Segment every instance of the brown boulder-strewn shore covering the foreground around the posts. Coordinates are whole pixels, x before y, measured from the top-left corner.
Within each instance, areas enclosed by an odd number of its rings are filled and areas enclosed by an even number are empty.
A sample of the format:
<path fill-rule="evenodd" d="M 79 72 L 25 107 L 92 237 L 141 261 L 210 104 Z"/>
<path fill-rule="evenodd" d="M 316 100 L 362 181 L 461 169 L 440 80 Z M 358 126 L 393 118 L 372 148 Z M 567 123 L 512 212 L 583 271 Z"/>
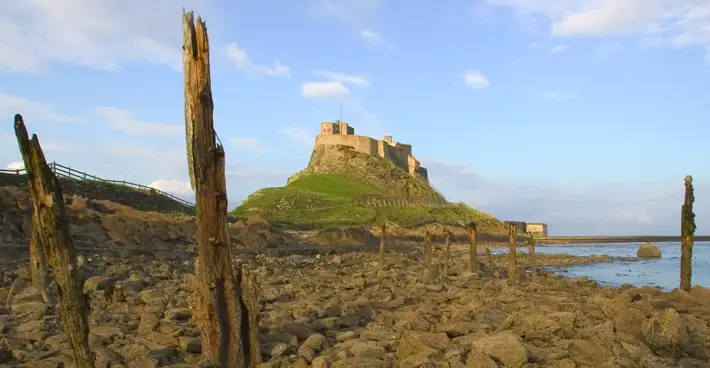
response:
<path fill-rule="evenodd" d="M 449 275 L 424 278 L 418 251 L 240 255 L 260 282 L 262 367 L 707 367 L 710 290 L 600 287 L 539 270 L 507 285 L 506 255 L 481 259 L 481 276 L 452 255 Z M 436 253 L 436 259 L 441 254 Z M 526 274 L 521 253 L 520 274 Z M 86 257 L 98 367 L 195 367 L 193 259 L 157 252 Z M 538 257 L 541 266 L 607 262 L 608 256 Z M 58 316 L 28 285 L 24 261 L 0 282 L 0 365 L 69 366 Z M 529 271 L 529 270 L 528 270 Z M 529 274 L 529 272 L 527 273 Z M 104 290 L 120 285 L 125 301 Z"/>

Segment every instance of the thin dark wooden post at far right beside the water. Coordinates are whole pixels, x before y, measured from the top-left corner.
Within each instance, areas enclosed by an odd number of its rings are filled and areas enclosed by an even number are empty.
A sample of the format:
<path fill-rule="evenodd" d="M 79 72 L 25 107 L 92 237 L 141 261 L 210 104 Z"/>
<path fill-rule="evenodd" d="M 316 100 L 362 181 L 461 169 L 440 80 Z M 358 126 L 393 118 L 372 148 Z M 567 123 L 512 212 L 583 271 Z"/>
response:
<path fill-rule="evenodd" d="M 685 202 L 680 216 L 680 288 L 690 291 L 693 274 L 693 237 L 695 236 L 695 214 L 693 213 L 693 177 L 685 177 Z"/>

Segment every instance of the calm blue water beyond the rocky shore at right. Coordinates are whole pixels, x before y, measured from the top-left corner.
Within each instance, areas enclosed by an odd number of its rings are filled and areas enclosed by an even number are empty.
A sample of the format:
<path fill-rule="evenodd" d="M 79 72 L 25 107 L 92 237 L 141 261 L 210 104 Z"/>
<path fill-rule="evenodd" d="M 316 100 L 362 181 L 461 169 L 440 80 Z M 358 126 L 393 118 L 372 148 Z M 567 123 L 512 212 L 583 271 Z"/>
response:
<path fill-rule="evenodd" d="M 578 256 L 607 254 L 614 257 L 636 257 L 640 243 L 574 244 L 538 247 L 538 253 L 569 253 Z M 600 284 L 620 286 L 660 286 L 666 290 L 680 284 L 680 243 L 657 243 L 661 247 L 660 259 L 638 262 L 610 262 L 571 266 L 565 276 L 588 276 Z M 710 287 L 710 242 L 698 242 L 693 247 L 693 285 Z"/>

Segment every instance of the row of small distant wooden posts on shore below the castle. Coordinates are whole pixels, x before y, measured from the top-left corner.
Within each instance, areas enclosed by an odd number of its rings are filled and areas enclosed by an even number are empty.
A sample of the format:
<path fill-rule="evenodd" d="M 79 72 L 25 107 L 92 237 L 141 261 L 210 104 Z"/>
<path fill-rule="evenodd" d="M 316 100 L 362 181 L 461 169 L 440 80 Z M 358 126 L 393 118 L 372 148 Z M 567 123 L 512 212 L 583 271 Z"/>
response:
<path fill-rule="evenodd" d="M 469 272 L 471 272 L 474 275 L 478 275 L 478 231 L 476 224 L 471 222 L 465 226 L 467 232 L 468 232 L 468 238 L 469 238 Z M 443 269 L 443 274 L 448 275 L 449 274 L 449 265 L 450 265 L 450 259 L 451 259 L 451 231 L 448 229 L 443 230 L 443 235 L 444 235 L 444 254 L 443 254 L 443 259 L 442 259 L 442 269 Z M 537 281 L 537 260 L 535 258 L 535 238 L 533 237 L 532 233 L 527 233 L 527 238 L 526 242 L 528 244 L 528 256 L 530 257 L 530 265 L 532 268 L 532 280 Z M 426 272 L 426 276 L 428 278 L 433 277 L 436 275 L 438 272 L 436 269 L 434 269 L 434 264 L 433 264 L 433 258 L 434 258 L 434 251 L 432 247 L 432 239 L 433 236 L 433 231 L 430 229 L 427 229 L 424 233 L 424 268 Z M 514 225 L 509 225 L 508 226 L 508 244 L 509 244 L 509 251 L 508 251 L 508 280 L 511 283 L 517 282 L 518 281 L 518 261 L 517 261 L 517 237 L 518 237 L 518 229 Z M 380 229 L 380 249 L 379 249 L 379 257 L 378 257 L 378 265 L 380 268 L 385 268 L 386 267 L 386 261 L 385 261 L 385 248 L 386 248 L 386 243 L 387 243 L 387 225 L 383 224 Z M 486 255 L 488 258 L 488 263 L 493 264 L 492 262 L 492 254 L 491 254 L 491 248 L 486 247 Z"/>

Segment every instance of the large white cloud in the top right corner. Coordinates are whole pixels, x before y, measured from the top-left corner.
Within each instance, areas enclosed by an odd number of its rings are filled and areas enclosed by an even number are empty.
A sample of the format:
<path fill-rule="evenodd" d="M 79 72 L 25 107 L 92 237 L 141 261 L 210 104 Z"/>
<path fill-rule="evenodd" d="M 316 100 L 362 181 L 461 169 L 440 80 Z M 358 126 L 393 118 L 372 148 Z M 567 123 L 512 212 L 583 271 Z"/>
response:
<path fill-rule="evenodd" d="M 633 35 L 642 44 L 701 46 L 710 58 L 710 2 L 705 0 L 487 0 L 549 21 L 556 36 Z"/>

